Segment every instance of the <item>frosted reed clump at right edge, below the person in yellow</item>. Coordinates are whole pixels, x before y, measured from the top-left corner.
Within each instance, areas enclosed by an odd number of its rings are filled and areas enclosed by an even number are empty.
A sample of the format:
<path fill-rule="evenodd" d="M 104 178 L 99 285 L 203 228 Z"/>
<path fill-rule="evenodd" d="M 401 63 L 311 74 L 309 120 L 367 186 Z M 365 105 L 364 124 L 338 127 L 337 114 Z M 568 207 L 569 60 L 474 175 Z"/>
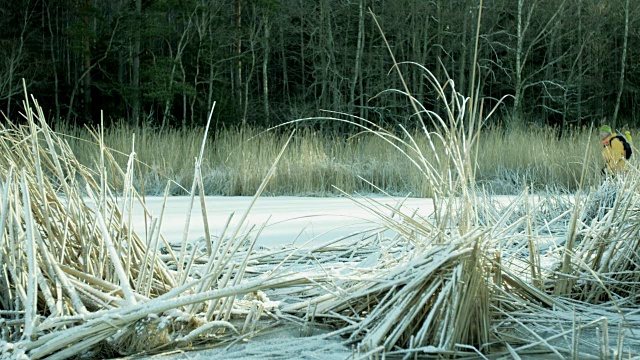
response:
<path fill-rule="evenodd" d="M 572 248 L 567 249 L 572 261 L 563 268 L 575 280 L 567 280 L 557 292 L 589 303 L 638 304 L 638 181 L 637 176 L 607 181 L 584 200 L 583 222 L 576 224 Z"/>

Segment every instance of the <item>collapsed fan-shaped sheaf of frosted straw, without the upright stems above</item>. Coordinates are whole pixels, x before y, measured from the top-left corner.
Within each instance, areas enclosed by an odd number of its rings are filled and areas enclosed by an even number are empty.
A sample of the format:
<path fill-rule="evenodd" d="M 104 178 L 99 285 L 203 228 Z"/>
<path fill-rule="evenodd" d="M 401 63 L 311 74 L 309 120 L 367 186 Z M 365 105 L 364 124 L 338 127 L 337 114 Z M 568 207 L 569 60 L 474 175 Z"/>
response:
<path fill-rule="evenodd" d="M 385 244 L 385 256 L 375 265 L 356 266 L 349 276 L 338 277 L 329 296 L 283 311 L 311 306 L 316 319 L 326 319 L 350 343 L 368 350 L 427 345 L 453 350 L 455 344 L 486 344 L 488 287 L 474 240 L 461 239 L 430 251 Z"/>

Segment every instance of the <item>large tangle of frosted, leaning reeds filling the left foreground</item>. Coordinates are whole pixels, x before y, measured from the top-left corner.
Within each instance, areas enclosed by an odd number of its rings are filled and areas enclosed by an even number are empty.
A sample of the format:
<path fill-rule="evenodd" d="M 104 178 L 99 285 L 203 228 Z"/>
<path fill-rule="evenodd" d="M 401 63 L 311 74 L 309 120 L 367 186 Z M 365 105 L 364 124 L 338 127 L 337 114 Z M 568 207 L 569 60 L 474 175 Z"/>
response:
<path fill-rule="evenodd" d="M 255 275 L 255 237 L 240 232 L 241 224 L 217 241 L 192 244 L 188 230 L 183 239 L 165 239 L 166 203 L 152 216 L 133 187 L 135 137 L 121 168 L 96 132 L 99 152 L 90 169 L 51 131 L 35 100 L 23 108 L 26 125 L 0 125 L 3 359 L 105 358 L 228 343 L 270 326 L 261 324 L 274 307 L 264 289 L 318 281 L 286 271 Z M 197 153 L 192 195 L 202 193 Z M 122 184 L 118 192 L 112 183 Z M 145 224 L 133 224 L 134 203 Z M 143 225 L 146 238 L 136 232 Z"/>

